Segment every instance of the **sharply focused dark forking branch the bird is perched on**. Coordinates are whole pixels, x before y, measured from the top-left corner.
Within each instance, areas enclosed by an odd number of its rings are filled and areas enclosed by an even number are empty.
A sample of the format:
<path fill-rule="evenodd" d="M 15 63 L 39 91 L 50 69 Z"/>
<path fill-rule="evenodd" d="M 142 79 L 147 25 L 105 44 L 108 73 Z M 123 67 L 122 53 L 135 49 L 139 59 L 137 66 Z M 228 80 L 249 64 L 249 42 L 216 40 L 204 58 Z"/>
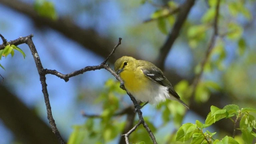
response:
<path fill-rule="evenodd" d="M 62 73 L 60 73 L 60 72 L 58 72 L 56 70 L 48 70 L 48 69 L 44 69 L 43 68 L 41 60 L 40 60 L 39 55 L 37 53 L 37 50 L 35 48 L 35 45 L 34 45 L 34 43 L 32 41 L 32 37 L 33 37 L 33 35 L 31 34 L 31 35 L 29 35 L 27 37 L 20 37 L 17 40 L 10 41 L 9 43 L 12 43 L 12 44 L 14 44 L 16 46 L 18 44 L 26 43 L 29 46 L 31 54 L 32 54 L 32 56 L 34 58 L 34 61 L 35 61 L 36 67 L 37 67 L 37 71 L 38 71 L 39 77 L 40 77 L 40 81 L 41 81 L 41 85 L 42 85 L 42 92 L 43 92 L 43 95 L 44 95 L 45 105 L 46 105 L 46 109 L 47 109 L 47 118 L 49 120 L 49 123 L 51 125 L 52 131 L 55 134 L 55 136 L 58 138 L 58 140 L 60 141 L 61 144 L 65 144 L 65 141 L 62 139 L 62 137 L 61 137 L 61 135 L 60 135 L 60 133 L 59 133 L 57 127 L 56 127 L 56 123 L 55 123 L 55 121 L 53 119 L 53 116 L 52 116 L 52 111 L 51 111 L 51 106 L 50 106 L 50 101 L 49 101 L 49 94 L 48 94 L 48 91 L 47 91 L 47 84 L 46 84 L 46 77 L 45 77 L 45 75 L 46 74 L 53 74 L 53 75 L 56 75 L 57 77 L 60 77 L 60 78 L 64 79 L 67 82 L 70 77 L 82 74 L 82 73 L 84 73 L 86 71 L 92 71 L 92 70 L 98 70 L 98 69 L 103 69 L 104 68 L 107 71 L 109 71 L 121 83 L 122 79 L 113 71 L 113 69 L 110 68 L 109 64 L 106 64 L 106 62 L 109 59 L 109 57 L 113 55 L 113 53 L 115 52 L 116 48 L 121 44 L 122 38 L 119 38 L 118 44 L 114 47 L 114 49 L 109 54 L 109 56 L 106 58 L 106 60 L 103 61 L 100 65 L 97 65 L 97 66 L 87 66 L 85 68 L 82 68 L 80 70 L 74 71 L 74 72 L 69 73 L 69 74 L 62 74 Z M 0 47 L 3 47 L 3 45 L 0 45 Z M 125 90 L 124 87 L 123 87 L 123 89 Z M 138 104 L 136 99 L 131 94 L 129 94 L 129 93 L 127 93 L 127 94 L 130 96 L 130 98 L 133 101 L 134 105 Z M 153 143 L 157 144 L 152 131 L 150 130 L 150 128 L 148 127 L 147 123 L 143 119 L 142 112 L 140 110 L 138 110 L 137 113 L 138 113 L 138 116 L 139 116 L 139 123 L 137 125 L 143 124 L 144 128 L 149 133 L 149 136 L 151 137 Z M 135 129 L 136 128 L 137 127 L 135 127 Z"/>

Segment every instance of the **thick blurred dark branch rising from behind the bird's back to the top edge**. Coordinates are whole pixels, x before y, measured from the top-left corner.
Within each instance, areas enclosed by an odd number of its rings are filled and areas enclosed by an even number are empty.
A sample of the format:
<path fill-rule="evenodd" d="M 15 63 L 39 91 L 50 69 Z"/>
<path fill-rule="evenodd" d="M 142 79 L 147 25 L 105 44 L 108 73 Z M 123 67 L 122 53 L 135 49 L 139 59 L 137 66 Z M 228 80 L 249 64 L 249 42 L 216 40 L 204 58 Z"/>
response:
<path fill-rule="evenodd" d="M 174 41 L 178 37 L 181 27 L 182 27 L 183 23 L 185 22 L 190 9 L 194 5 L 194 2 L 195 2 L 195 0 L 187 0 L 184 4 L 182 4 L 180 6 L 177 20 L 174 23 L 172 31 L 169 33 L 164 45 L 161 47 L 160 53 L 157 58 L 157 60 L 158 60 L 157 66 L 160 69 L 164 68 L 164 61 L 165 61 L 169 51 L 171 50 Z"/>

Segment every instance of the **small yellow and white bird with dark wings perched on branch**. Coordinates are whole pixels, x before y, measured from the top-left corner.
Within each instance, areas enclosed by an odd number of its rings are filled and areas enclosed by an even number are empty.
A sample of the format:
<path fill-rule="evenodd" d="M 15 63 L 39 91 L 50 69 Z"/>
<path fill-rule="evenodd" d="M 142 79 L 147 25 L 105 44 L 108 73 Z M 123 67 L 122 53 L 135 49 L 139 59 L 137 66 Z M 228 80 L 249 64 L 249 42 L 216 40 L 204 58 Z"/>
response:
<path fill-rule="evenodd" d="M 163 75 L 163 72 L 154 64 L 123 56 L 116 60 L 114 65 L 114 69 L 123 80 L 127 92 L 132 94 L 137 101 L 146 102 L 144 105 L 147 103 L 158 104 L 167 98 L 177 100 L 189 109 Z M 135 111 L 143 106 L 135 106 Z"/>

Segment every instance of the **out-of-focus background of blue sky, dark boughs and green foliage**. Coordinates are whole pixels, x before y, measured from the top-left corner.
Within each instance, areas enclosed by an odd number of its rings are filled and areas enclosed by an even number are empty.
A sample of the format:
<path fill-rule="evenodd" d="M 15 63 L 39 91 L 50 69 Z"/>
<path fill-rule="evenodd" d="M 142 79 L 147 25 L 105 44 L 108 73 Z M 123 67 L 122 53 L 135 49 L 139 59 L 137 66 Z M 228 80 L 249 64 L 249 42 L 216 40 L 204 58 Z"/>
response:
<path fill-rule="evenodd" d="M 186 7 L 188 16 L 170 51 L 161 53 L 188 1 L 0 0 L 0 33 L 7 41 L 33 34 L 43 67 L 63 74 L 99 65 L 121 37 L 110 65 L 124 55 L 155 63 L 190 106 L 186 110 L 167 100 L 142 109 L 158 143 L 175 143 L 177 128 L 196 119 L 204 122 L 211 105 L 256 107 L 255 0 L 221 0 L 219 33 L 207 58 L 216 0 L 195 0 L 191 9 Z M 31 52 L 26 44 L 18 47 L 25 59 L 15 52 L 13 58 L 0 61 L 5 68 L 0 69 L 4 78 L 0 78 L 0 144 L 58 143 L 49 126 Z M 131 100 L 104 69 L 68 82 L 53 75 L 46 78 L 53 118 L 66 141 L 122 143 L 121 134 L 138 121 Z M 124 109 L 125 114 L 113 116 Z M 230 135 L 233 123 L 223 120 L 209 130 L 220 137 Z M 130 142 L 140 141 L 151 143 L 142 126 L 130 136 Z"/>

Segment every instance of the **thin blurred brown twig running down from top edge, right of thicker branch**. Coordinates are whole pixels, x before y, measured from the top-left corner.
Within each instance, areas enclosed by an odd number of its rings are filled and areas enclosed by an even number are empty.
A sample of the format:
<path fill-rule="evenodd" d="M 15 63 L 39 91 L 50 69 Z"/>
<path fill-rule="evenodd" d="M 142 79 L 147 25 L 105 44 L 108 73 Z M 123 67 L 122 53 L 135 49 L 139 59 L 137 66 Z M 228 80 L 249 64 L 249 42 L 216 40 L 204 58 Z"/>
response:
<path fill-rule="evenodd" d="M 206 62 L 208 61 L 209 57 L 210 57 L 210 54 L 213 50 L 213 46 L 216 42 L 216 37 L 218 36 L 218 17 L 219 17 L 219 7 L 220 7 L 220 0 L 217 1 L 217 5 L 216 5 L 216 13 L 215 13 L 215 17 L 214 17 L 214 23 L 213 23 L 213 29 L 214 29 L 214 32 L 212 34 L 212 37 L 211 37 L 211 40 L 209 42 L 209 45 L 208 45 L 208 48 L 207 48 L 207 51 L 206 51 L 206 55 L 205 55 L 205 58 L 203 59 L 203 61 L 201 62 L 201 69 L 200 69 L 200 72 L 196 75 L 193 83 L 192 83 L 192 87 L 193 87 L 193 91 L 192 91 L 192 96 L 194 95 L 195 93 L 195 89 L 199 83 L 199 80 L 203 74 L 203 70 L 204 70 L 204 66 L 206 64 Z"/>

